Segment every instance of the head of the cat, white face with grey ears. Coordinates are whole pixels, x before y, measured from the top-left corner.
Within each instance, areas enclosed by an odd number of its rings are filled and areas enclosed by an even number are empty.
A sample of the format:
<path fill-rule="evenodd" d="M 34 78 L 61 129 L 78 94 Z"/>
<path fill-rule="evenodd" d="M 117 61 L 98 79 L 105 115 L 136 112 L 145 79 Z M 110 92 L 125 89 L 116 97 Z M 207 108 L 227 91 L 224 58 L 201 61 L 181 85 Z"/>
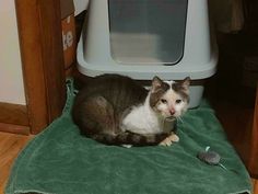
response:
<path fill-rule="evenodd" d="M 162 81 L 159 77 L 152 80 L 150 106 L 163 117 L 179 117 L 189 104 L 190 78 L 183 81 Z"/>

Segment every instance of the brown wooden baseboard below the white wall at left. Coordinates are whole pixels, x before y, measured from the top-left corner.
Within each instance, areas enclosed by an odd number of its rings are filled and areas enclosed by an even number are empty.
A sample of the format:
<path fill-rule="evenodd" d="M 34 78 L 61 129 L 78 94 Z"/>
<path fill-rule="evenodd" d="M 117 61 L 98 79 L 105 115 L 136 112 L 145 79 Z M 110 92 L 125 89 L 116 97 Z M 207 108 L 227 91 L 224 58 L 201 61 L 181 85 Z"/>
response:
<path fill-rule="evenodd" d="M 30 133 L 27 106 L 0 102 L 0 130 L 15 134 Z"/>

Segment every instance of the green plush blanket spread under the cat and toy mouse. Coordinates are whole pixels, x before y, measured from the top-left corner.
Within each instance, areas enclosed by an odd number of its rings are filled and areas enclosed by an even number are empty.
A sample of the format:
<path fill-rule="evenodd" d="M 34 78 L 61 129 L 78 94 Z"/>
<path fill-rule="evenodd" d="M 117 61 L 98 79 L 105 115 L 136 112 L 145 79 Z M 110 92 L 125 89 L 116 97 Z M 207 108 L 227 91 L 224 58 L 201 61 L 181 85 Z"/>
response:
<path fill-rule="evenodd" d="M 251 192 L 250 178 L 228 144 L 214 111 L 206 101 L 178 123 L 179 142 L 172 147 L 105 146 L 80 136 L 70 107 L 28 142 L 17 157 L 7 194 L 225 194 Z M 207 146 L 221 163 L 209 166 L 196 156 Z"/>

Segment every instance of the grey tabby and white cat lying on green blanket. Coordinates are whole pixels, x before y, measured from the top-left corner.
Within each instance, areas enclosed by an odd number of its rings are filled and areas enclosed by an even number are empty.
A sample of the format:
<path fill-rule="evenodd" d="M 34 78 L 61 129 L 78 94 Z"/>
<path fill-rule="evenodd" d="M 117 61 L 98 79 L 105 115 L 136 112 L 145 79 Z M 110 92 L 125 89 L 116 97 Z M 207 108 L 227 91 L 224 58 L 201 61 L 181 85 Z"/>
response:
<path fill-rule="evenodd" d="M 178 137 L 163 129 L 164 119 L 187 111 L 189 84 L 189 77 L 154 77 L 146 90 L 126 76 L 97 76 L 77 94 L 72 117 L 82 135 L 106 145 L 169 146 Z"/>

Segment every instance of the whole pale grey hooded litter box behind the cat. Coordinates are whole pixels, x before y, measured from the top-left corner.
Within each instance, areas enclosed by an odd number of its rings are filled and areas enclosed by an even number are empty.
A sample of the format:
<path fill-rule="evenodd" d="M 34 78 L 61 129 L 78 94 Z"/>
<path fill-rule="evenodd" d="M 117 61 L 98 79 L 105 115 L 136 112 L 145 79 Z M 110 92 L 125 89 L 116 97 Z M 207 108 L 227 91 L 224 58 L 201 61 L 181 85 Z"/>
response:
<path fill-rule="evenodd" d="M 119 73 L 136 80 L 190 77 L 190 107 L 215 73 L 218 49 L 207 0 L 92 0 L 77 50 L 87 77 Z"/>

